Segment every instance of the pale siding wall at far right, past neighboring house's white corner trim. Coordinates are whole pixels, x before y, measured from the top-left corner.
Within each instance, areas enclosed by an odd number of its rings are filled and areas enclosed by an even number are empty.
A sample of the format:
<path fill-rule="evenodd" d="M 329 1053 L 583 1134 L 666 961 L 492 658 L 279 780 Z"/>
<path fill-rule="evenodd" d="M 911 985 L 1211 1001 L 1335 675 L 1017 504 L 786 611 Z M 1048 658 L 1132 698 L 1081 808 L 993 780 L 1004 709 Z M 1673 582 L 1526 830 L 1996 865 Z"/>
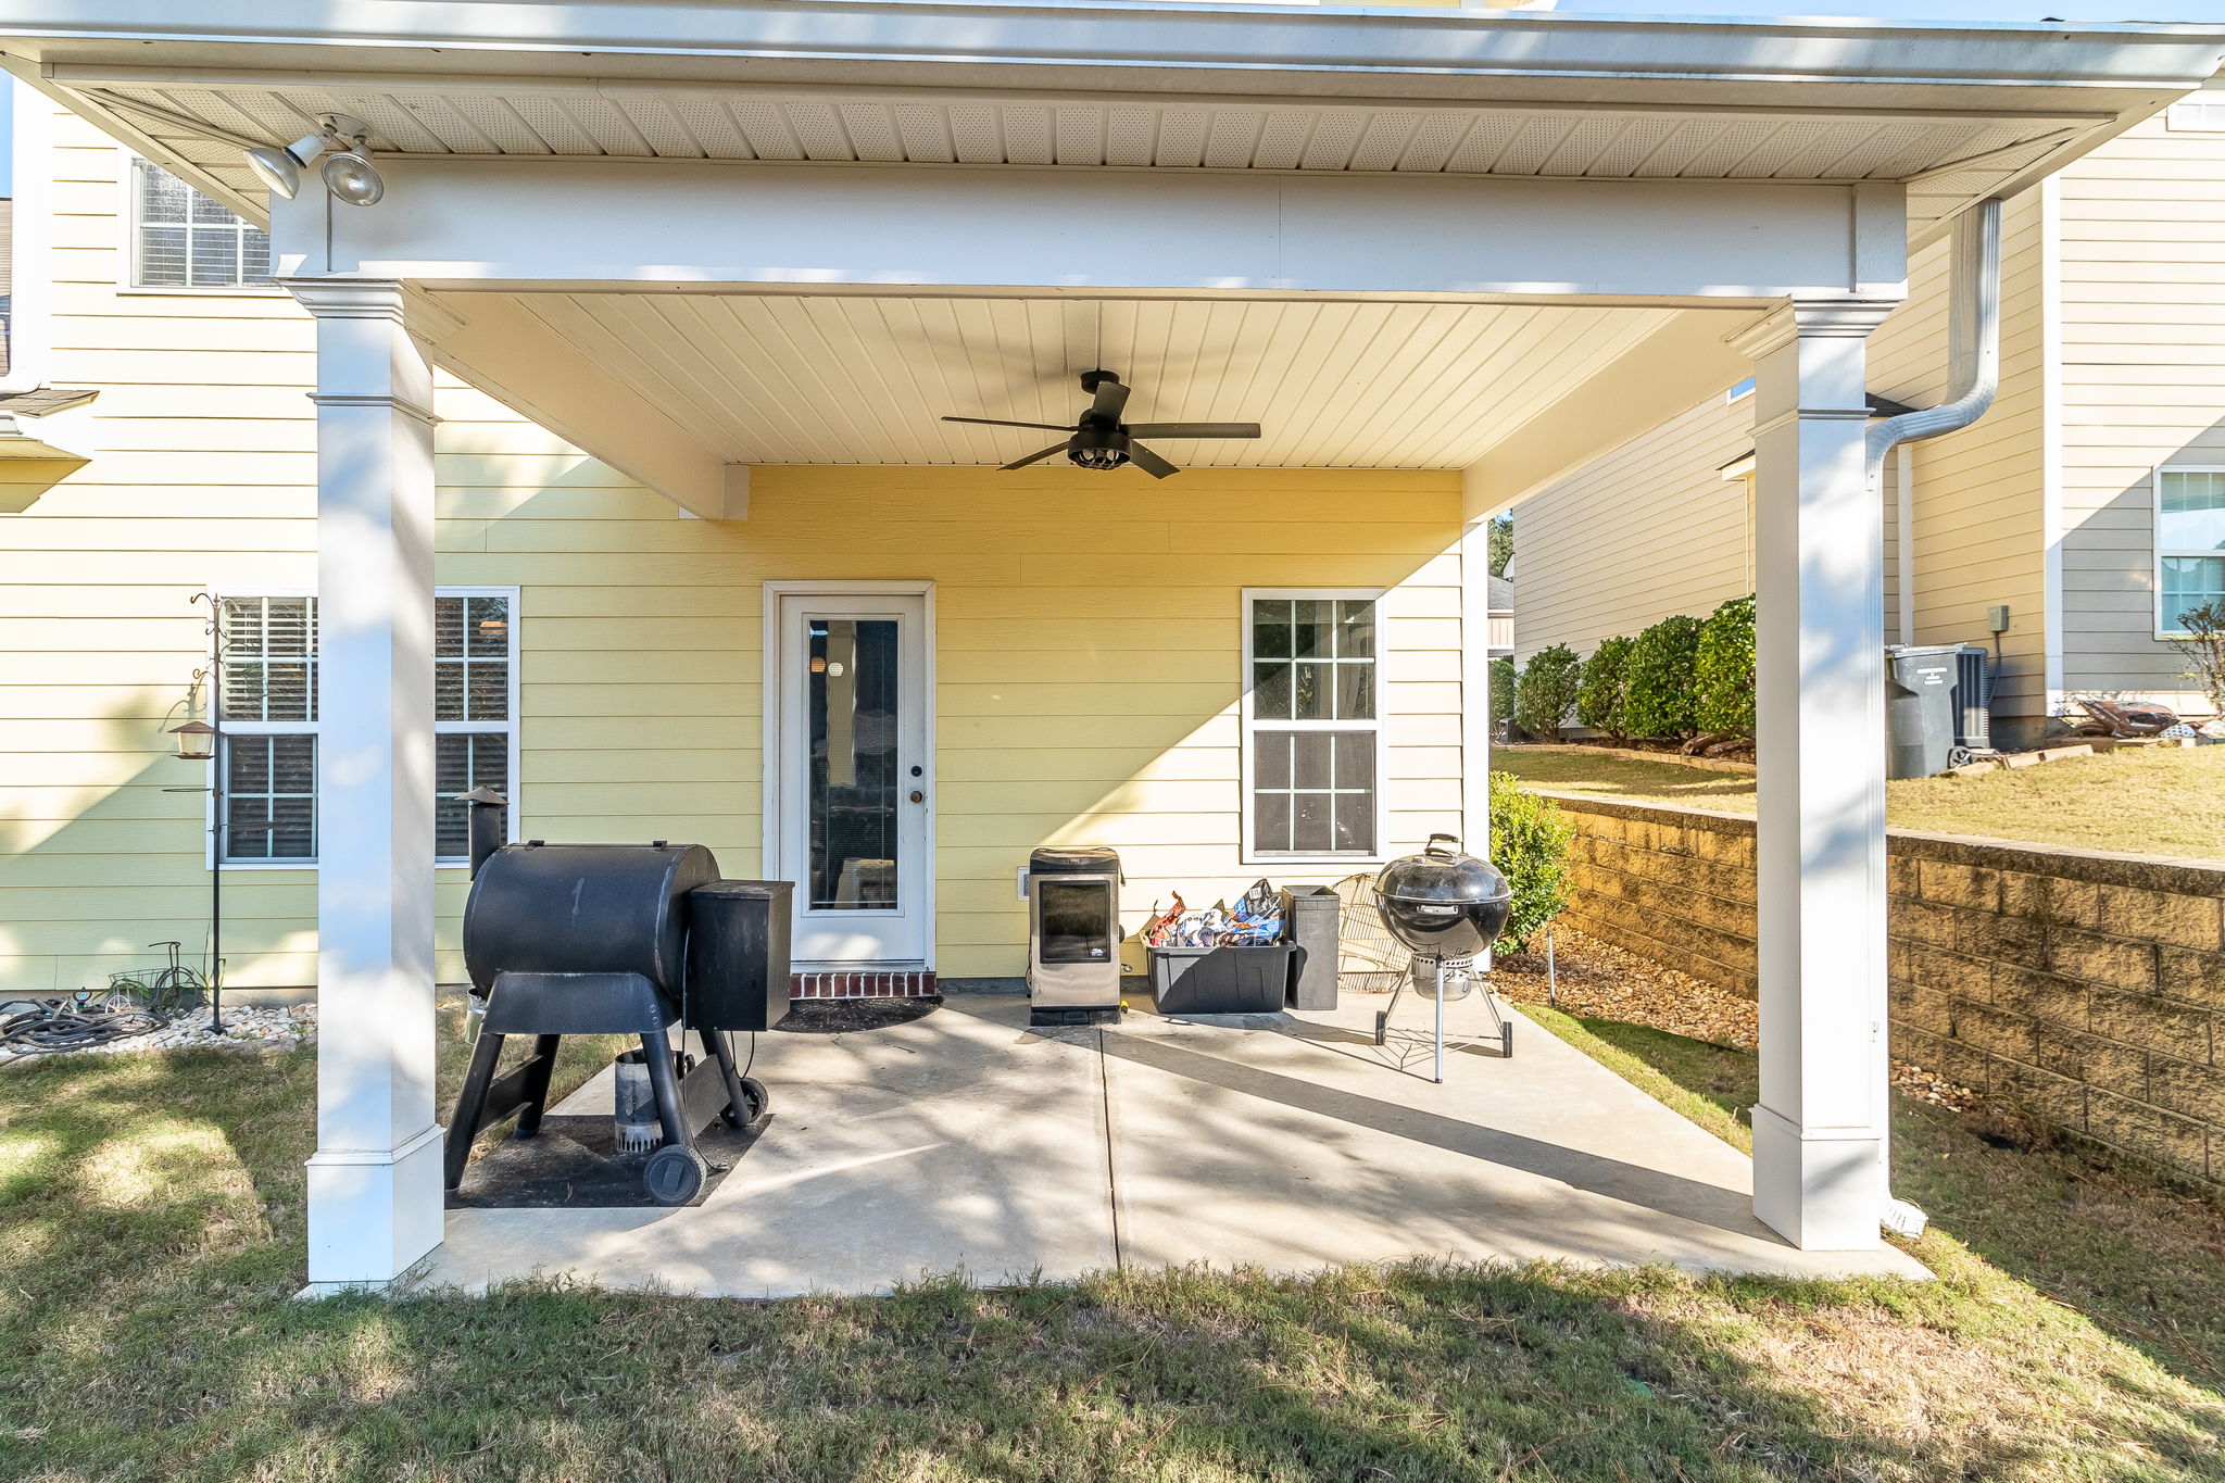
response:
<path fill-rule="evenodd" d="M 2154 467 L 2225 465 L 2225 133 L 2152 120 L 2060 182 L 2063 685 L 2209 703 L 2156 638 Z"/>

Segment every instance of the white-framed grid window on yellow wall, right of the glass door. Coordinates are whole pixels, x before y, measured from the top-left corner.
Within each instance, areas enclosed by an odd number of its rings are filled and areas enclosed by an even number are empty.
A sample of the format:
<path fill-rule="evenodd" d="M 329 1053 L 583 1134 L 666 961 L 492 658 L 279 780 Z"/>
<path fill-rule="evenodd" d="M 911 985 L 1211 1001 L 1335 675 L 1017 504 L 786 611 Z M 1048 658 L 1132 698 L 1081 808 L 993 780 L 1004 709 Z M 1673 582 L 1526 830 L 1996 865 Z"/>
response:
<path fill-rule="evenodd" d="M 1375 596 L 1246 594 L 1250 852 L 1377 852 Z"/>

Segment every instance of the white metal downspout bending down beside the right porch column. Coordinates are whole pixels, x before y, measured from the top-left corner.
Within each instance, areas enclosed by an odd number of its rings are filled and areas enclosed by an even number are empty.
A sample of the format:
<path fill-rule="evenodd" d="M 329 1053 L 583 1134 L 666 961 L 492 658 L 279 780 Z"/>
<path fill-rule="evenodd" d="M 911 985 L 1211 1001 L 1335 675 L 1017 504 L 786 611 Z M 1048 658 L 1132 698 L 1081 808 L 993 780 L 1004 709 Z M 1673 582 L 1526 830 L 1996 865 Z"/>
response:
<path fill-rule="evenodd" d="M 1985 416 L 2000 389 L 2000 200 L 1987 200 L 1974 211 L 1965 211 L 1954 222 L 1951 273 L 1947 280 L 1947 400 L 1922 411 L 1905 411 L 1896 418 L 1873 422 L 1867 438 L 1867 471 L 1871 498 L 1885 498 L 1885 458 L 1907 442 L 1938 438 L 1962 431 Z M 1914 500 L 1907 511 L 1914 518 Z M 1909 531 L 1902 529 L 1907 540 Z M 1902 585 L 1907 574 L 1902 574 Z M 1902 596 L 1902 609 L 1909 598 Z M 1902 634 L 1907 640 L 1907 634 Z M 1873 780 L 1885 789 L 1882 772 Z M 1882 798 L 1878 800 L 1882 805 Z M 1882 807 L 1880 807 L 1882 812 Z M 1885 843 L 1878 843 L 1878 858 L 1871 860 L 1873 878 L 1885 880 Z M 1878 1083 L 1891 1087 L 1893 1063 L 1889 1045 L 1889 1009 L 1878 1012 Z M 1885 1116 L 1878 1123 L 1878 1161 L 1885 1183 L 1885 1225 L 1902 1236 L 1920 1236 L 1927 1216 L 1907 1201 L 1893 1198 L 1891 1163 L 1891 1092 L 1887 1092 Z"/>

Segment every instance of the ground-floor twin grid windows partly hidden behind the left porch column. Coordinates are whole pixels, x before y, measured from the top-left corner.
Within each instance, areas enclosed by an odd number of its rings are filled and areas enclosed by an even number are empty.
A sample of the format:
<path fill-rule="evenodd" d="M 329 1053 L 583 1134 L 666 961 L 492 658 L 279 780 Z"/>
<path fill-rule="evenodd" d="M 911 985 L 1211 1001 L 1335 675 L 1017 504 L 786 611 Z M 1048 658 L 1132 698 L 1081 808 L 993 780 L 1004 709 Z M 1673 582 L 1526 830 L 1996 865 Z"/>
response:
<path fill-rule="evenodd" d="M 225 860 L 316 860 L 316 598 L 225 598 Z M 510 796 L 516 625 L 505 591 L 434 598 L 434 854 L 465 858 L 456 794 Z"/>

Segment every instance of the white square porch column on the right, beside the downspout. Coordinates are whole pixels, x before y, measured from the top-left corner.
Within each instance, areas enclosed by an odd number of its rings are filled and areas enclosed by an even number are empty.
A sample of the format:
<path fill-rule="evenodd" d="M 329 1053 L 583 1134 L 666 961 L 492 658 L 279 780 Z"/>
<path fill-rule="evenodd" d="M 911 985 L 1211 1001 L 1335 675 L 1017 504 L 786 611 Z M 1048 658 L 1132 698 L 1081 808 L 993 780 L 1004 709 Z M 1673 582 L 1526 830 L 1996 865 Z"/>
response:
<path fill-rule="evenodd" d="M 1753 360 L 1762 1098 L 1753 1214 L 1878 1245 L 1885 1036 L 1885 551 L 1862 467 L 1865 338 L 1893 300 L 1796 300 Z"/>

